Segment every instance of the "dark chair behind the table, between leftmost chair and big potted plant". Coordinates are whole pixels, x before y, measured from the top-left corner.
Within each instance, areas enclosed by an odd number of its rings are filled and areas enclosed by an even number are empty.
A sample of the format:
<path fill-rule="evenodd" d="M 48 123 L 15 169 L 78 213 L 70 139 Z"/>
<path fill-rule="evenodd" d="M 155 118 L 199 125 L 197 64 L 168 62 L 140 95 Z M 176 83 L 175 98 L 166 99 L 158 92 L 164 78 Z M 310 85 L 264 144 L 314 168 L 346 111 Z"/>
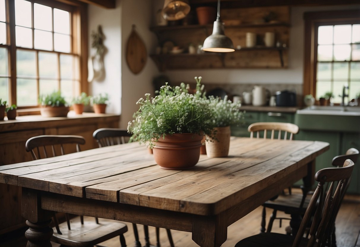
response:
<path fill-rule="evenodd" d="M 127 130 L 117 129 L 117 128 L 101 128 L 95 130 L 93 133 L 93 137 L 98 142 L 100 148 L 126 143 L 127 139 L 130 138 L 130 136 L 132 136 L 132 134 L 128 133 Z M 141 247 L 141 243 L 139 241 L 138 228 L 134 223 L 132 224 L 132 227 L 134 229 L 134 235 L 135 235 L 135 247 Z M 172 240 L 170 229 L 166 229 L 166 232 L 170 242 L 170 246 L 174 247 L 174 242 Z M 149 227 L 147 225 L 144 225 L 144 234 L 145 234 L 145 243 L 146 243 L 145 246 L 149 247 L 150 246 Z M 159 228 L 156 228 L 156 240 L 157 240 L 156 246 L 160 246 Z"/>

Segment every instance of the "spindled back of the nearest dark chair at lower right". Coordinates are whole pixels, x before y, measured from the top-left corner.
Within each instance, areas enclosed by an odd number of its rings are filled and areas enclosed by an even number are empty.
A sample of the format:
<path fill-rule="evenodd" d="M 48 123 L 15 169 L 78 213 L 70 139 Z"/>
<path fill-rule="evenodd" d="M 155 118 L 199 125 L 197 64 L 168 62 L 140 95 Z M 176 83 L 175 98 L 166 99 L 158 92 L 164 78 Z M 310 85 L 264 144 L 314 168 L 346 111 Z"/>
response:
<path fill-rule="evenodd" d="M 354 162 L 346 160 L 342 167 L 325 168 L 316 172 L 315 179 L 319 182 L 314 194 L 311 197 L 309 206 L 306 208 L 305 215 L 301 221 L 300 229 L 298 230 L 293 247 L 300 244 L 305 229 L 309 223 L 311 215 L 314 217 L 310 227 L 310 239 L 307 243 L 308 247 L 325 246 L 328 241 L 329 234 L 332 233 L 334 221 L 339 210 L 341 200 L 346 192 L 347 184 L 351 178 L 354 169 Z M 326 196 L 323 190 L 323 185 L 331 183 Z M 336 185 L 337 183 L 337 185 Z M 333 192 L 333 190 L 335 191 Z M 319 199 L 319 205 L 316 206 L 316 201 Z"/>

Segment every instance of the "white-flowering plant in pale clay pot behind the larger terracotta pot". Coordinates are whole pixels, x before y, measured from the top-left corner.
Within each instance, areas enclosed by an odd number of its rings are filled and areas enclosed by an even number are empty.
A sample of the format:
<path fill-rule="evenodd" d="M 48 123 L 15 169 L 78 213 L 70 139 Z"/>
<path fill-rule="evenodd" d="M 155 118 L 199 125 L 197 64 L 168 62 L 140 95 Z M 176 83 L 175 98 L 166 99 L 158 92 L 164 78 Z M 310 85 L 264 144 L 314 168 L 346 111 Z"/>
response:
<path fill-rule="evenodd" d="M 226 157 L 229 154 L 230 125 L 237 125 L 243 120 L 243 112 L 240 111 L 241 102 L 231 102 L 228 96 L 224 99 L 209 96 L 210 107 L 213 111 L 213 135 L 206 136 L 206 154 L 208 157 Z"/>

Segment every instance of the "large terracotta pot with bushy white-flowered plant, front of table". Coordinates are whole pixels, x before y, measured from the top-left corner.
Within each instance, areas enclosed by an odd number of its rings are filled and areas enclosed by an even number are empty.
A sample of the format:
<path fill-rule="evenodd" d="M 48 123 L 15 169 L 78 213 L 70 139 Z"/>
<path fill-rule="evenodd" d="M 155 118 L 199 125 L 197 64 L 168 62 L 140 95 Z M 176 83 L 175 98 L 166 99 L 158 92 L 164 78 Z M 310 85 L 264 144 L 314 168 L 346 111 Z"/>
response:
<path fill-rule="evenodd" d="M 195 77 L 198 79 L 197 77 Z M 204 134 L 212 135 L 213 111 L 197 80 L 196 93 L 189 85 L 161 87 L 155 98 L 140 98 L 135 120 L 129 122 L 131 140 L 153 148 L 156 163 L 164 169 L 189 169 L 199 160 Z"/>

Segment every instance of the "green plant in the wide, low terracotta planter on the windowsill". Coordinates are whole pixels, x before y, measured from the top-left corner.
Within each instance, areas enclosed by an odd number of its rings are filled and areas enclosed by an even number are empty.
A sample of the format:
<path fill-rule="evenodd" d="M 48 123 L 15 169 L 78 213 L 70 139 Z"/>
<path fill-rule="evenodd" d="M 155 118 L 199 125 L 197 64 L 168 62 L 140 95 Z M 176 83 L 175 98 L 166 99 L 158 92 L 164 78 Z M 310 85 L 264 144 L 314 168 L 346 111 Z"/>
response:
<path fill-rule="evenodd" d="M 59 91 L 40 95 L 39 104 L 41 116 L 44 117 L 66 117 L 69 112 L 66 100 Z"/>

